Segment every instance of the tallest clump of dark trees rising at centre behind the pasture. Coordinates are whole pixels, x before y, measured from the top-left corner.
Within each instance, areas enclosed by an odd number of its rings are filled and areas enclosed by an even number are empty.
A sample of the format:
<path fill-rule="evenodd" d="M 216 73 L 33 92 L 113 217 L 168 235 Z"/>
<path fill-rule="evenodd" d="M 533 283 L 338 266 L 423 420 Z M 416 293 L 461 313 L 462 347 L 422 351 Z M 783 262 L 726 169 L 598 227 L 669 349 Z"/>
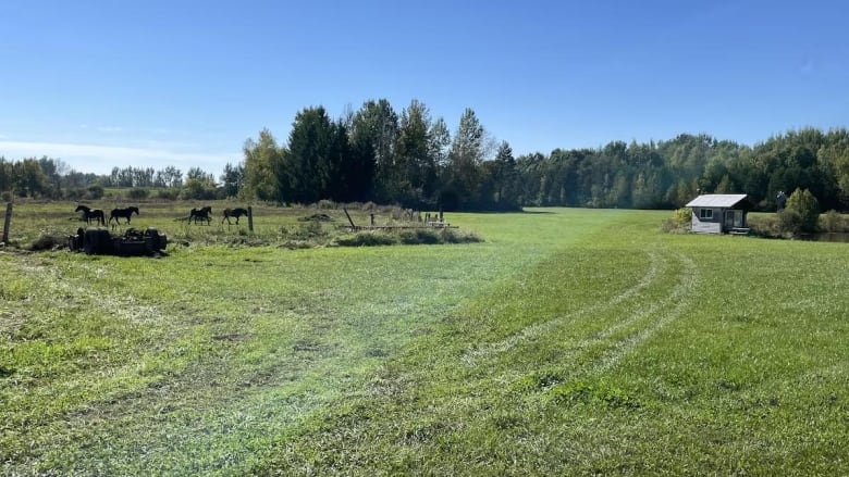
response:
<path fill-rule="evenodd" d="M 494 152 L 494 156 L 492 155 Z M 285 145 L 268 129 L 244 147 L 244 192 L 282 203 L 374 201 L 410 208 L 516 210 L 515 159 L 471 109 L 452 133 L 414 100 L 397 113 L 386 100 L 331 118 L 297 113 Z"/>

